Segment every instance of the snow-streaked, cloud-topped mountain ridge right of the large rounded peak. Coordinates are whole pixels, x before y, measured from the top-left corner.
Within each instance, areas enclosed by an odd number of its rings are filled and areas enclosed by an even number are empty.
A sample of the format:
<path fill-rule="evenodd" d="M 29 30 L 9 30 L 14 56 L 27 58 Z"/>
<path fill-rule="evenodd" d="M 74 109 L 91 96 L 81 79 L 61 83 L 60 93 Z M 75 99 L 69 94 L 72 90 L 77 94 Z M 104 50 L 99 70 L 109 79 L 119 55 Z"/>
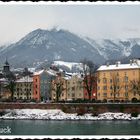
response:
<path fill-rule="evenodd" d="M 84 39 L 95 49 L 97 49 L 99 54 L 104 56 L 106 60 L 121 59 L 125 57 L 139 57 L 140 38 L 131 38 L 125 40 L 93 40 L 86 37 Z"/>

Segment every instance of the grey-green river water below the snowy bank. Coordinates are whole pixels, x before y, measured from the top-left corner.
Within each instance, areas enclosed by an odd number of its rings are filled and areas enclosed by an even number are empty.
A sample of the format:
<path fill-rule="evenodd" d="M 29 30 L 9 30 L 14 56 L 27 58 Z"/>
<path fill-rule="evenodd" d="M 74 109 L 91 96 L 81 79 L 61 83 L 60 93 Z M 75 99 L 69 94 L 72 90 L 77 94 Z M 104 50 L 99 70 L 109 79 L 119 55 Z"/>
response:
<path fill-rule="evenodd" d="M 11 129 L 10 135 L 140 135 L 140 121 L 138 120 L 0 120 L 0 129 L 7 126 Z"/>

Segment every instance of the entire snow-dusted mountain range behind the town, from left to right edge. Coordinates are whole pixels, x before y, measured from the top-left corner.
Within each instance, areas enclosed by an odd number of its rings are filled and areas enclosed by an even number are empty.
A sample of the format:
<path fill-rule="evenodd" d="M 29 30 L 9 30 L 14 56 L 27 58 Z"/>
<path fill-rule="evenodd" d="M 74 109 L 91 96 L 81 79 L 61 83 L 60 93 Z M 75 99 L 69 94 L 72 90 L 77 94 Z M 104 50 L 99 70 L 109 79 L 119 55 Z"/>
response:
<path fill-rule="evenodd" d="M 84 58 L 101 64 L 139 54 L 140 38 L 94 40 L 62 29 L 37 29 L 14 44 L 0 47 L 1 63 L 7 57 L 12 65 L 20 67 L 56 60 L 80 62 Z"/>

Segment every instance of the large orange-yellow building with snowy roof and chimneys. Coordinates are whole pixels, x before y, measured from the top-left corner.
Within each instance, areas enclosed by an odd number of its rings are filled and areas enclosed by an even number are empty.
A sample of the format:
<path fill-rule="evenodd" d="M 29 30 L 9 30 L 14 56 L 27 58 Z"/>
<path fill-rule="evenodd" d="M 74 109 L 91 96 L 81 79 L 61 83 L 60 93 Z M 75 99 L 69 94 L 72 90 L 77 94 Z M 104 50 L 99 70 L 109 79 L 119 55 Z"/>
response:
<path fill-rule="evenodd" d="M 97 70 L 97 100 L 131 101 L 139 99 L 132 90 L 131 82 L 140 80 L 140 60 L 130 60 L 130 64 L 102 65 Z"/>

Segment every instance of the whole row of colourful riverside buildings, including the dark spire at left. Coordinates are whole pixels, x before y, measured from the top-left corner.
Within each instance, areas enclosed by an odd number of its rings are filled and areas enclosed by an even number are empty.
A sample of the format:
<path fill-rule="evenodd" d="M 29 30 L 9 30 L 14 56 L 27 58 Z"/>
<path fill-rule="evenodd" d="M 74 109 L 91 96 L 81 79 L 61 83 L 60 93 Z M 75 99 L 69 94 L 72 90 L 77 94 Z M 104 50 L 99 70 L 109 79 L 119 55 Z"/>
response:
<path fill-rule="evenodd" d="M 3 73 L 10 73 L 8 62 Z M 0 77 L 0 98 L 8 99 L 11 91 L 7 88 L 8 79 L 3 73 Z M 85 77 L 82 74 L 59 73 L 52 69 L 40 70 L 32 74 L 17 76 L 15 80 L 14 100 L 35 101 L 73 101 L 89 99 Z M 130 60 L 129 64 L 116 62 L 114 65 L 100 66 L 92 82 L 91 100 L 131 101 L 140 99 L 140 60 Z M 135 84 L 134 84 L 135 83 Z M 136 86 L 137 83 L 137 86 Z M 90 86 L 90 82 L 88 85 Z M 135 87 L 134 87 L 135 86 Z"/>

